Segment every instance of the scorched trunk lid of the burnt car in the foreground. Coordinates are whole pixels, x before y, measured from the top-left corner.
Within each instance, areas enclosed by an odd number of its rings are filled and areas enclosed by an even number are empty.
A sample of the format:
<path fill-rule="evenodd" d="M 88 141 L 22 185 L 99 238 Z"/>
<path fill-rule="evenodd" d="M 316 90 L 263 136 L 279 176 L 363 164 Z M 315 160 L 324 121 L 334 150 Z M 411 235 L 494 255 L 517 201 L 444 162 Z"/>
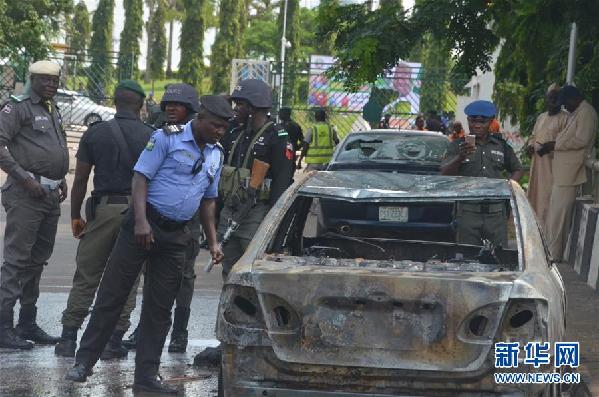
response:
<path fill-rule="evenodd" d="M 282 361 L 447 372 L 483 365 L 519 275 L 297 266 L 292 260 L 258 260 L 247 274 Z M 282 325 L 269 315 L 277 307 L 296 320 Z M 481 310 L 489 318 L 483 337 L 467 330 Z"/>

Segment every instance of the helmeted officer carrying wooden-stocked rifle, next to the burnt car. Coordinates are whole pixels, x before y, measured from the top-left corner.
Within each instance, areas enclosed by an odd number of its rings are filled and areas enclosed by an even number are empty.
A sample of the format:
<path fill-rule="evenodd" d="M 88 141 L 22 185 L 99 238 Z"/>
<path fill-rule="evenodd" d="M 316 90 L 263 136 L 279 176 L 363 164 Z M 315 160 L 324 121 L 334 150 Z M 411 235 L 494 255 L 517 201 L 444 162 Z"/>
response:
<path fill-rule="evenodd" d="M 262 80 L 239 82 L 231 99 L 240 126 L 223 146 L 225 166 L 219 185 L 224 207 L 218 234 L 222 236 L 230 221 L 239 228 L 223 247 L 223 279 L 247 249 L 268 210 L 291 184 L 293 147 L 285 130 L 279 130 L 268 117 L 272 92 Z M 216 364 L 219 348 L 207 348 L 194 359 L 195 364 Z"/>

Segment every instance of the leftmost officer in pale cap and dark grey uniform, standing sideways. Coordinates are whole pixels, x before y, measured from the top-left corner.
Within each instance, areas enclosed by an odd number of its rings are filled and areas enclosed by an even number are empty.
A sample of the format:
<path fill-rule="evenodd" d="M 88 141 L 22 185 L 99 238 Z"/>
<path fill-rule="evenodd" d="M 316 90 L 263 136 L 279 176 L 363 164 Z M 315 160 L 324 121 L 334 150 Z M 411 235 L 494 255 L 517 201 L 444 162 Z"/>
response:
<path fill-rule="evenodd" d="M 60 66 L 39 61 L 29 67 L 31 89 L 0 110 L 0 168 L 6 210 L 4 263 L 0 270 L 0 347 L 30 349 L 33 341 L 58 338 L 36 323 L 39 282 L 54 248 L 60 203 L 67 197 L 66 135 L 56 103 Z M 13 328 L 13 308 L 21 302 Z"/>

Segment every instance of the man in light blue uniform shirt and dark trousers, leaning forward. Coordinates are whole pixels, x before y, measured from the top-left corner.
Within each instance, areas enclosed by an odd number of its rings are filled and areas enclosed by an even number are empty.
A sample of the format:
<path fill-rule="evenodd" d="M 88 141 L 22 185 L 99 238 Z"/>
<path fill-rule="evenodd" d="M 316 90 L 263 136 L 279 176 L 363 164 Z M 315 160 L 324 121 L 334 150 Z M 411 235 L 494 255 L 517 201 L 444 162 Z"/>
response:
<path fill-rule="evenodd" d="M 221 96 L 204 96 L 200 103 L 198 116 L 184 127 L 172 125 L 156 131 L 135 165 L 133 205 L 106 265 L 68 380 L 84 382 L 91 375 L 147 261 L 148 288 L 144 288 L 133 389 L 177 393 L 159 380 L 158 367 L 191 238 L 186 224 L 198 207 L 212 259 L 216 263 L 223 259 L 215 226 L 223 163 L 218 140 L 233 110 Z"/>

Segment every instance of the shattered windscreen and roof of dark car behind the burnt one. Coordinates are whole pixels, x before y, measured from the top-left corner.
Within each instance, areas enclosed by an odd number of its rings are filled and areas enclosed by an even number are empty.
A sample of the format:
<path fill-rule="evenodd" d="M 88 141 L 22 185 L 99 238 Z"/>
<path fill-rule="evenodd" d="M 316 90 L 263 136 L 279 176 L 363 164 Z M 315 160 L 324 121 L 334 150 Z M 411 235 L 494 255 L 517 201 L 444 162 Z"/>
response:
<path fill-rule="evenodd" d="M 449 143 L 447 137 L 440 132 L 352 132 L 337 145 L 326 169 L 438 174 Z"/>

